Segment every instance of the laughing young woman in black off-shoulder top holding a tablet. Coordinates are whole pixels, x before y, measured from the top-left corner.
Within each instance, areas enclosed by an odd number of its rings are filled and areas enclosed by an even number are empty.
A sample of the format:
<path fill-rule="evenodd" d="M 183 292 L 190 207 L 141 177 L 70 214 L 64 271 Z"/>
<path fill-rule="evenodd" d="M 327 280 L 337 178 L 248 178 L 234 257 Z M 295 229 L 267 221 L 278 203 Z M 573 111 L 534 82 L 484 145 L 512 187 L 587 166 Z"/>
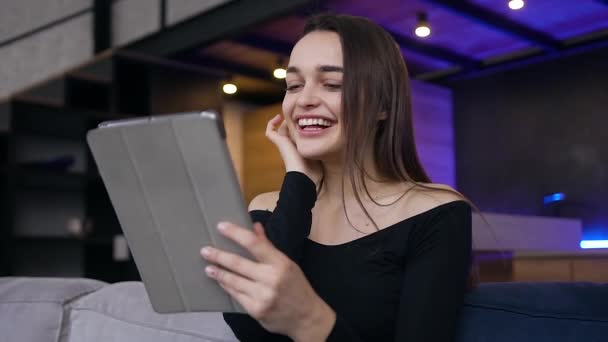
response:
<path fill-rule="evenodd" d="M 430 183 L 407 70 L 371 21 L 313 17 L 266 135 L 287 173 L 257 196 L 254 231 L 218 229 L 253 260 L 205 247 L 207 274 L 249 313 L 243 341 L 450 341 L 471 260 L 471 206 Z"/>

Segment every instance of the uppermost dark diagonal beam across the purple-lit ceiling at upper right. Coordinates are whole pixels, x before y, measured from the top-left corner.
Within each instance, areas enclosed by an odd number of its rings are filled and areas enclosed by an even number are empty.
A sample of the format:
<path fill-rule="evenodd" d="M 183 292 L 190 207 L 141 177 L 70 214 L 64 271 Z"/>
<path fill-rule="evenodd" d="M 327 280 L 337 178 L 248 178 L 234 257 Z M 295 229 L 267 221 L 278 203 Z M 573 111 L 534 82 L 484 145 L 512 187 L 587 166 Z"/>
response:
<path fill-rule="evenodd" d="M 487 10 L 477 4 L 465 0 L 425 0 L 439 5 L 461 16 L 465 16 L 487 27 L 524 39 L 545 50 L 556 51 L 563 48 L 563 44 L 550 35 L 515 22 L 496 12 Z"/>

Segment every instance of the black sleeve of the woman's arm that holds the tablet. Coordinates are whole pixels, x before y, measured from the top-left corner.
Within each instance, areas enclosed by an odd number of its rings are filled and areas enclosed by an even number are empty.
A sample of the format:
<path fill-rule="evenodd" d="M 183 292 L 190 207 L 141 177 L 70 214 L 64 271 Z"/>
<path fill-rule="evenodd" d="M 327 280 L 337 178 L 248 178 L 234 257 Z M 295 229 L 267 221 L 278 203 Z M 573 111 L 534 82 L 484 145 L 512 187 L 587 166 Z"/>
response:
<path fill-rule="evenodd" d="M 446 342 L 454 338 L 471 260 L 471 209 L 465 202 L 438 212 L 408 241 L 407 264 L 394 341 Z M 363 342 L 337 317 L 328 342 Z"/>

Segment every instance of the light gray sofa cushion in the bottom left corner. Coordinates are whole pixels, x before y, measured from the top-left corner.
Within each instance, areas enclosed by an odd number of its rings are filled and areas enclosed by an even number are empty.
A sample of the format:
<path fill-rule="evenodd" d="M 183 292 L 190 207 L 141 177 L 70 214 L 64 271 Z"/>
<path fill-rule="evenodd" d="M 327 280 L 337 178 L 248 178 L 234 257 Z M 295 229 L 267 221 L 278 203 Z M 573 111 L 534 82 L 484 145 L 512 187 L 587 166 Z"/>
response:
<path fill-rule="evenodd" d="M 0 278 L 0 340 L 58 341 L 63 305 L 104 285 L 91 279 Z"/>

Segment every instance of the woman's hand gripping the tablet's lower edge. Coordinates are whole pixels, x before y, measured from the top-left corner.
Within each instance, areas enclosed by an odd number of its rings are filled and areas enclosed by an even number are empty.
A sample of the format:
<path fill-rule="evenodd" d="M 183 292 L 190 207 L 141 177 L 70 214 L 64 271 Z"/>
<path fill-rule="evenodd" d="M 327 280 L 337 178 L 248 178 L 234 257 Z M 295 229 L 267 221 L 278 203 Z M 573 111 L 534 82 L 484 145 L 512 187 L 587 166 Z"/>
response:
<path fill-rule="evenodd" d="M 207 266 L 207 275 L 268 331 L 296 341 L 325 340 L 335 322 L 334 311 L 317 295 L 298 265 L 266 238 L 262 225 L 256 223 L 251 231 L 220 223 L 218 230 L 257 261 L 205 247 L 201 255 L 217 265 Z"/>

